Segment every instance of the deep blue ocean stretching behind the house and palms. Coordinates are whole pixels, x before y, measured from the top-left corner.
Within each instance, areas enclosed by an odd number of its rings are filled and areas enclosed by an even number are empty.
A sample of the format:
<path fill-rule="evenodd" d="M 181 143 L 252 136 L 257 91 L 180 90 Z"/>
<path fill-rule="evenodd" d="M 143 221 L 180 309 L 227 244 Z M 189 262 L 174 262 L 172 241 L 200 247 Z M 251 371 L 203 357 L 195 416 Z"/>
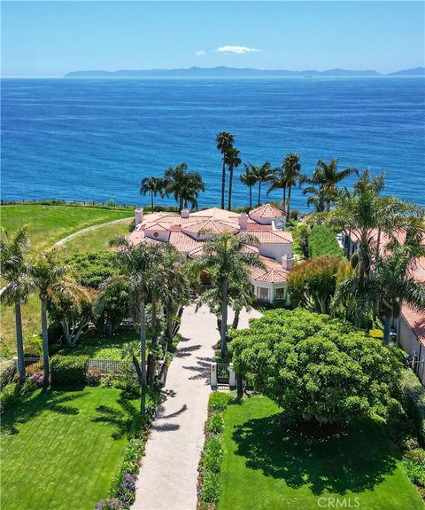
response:
<path fill-rule="evenodd" d="M 1 104 L 4 200 L 148 203 L 141 179 L 185 161 L 205 180 L 199 206 L 218 205 L 215 135 L 228 130 L 243 161 L 278 166 L 296 152 L 309 174 L 336 157 L 425 205 L 423 78 L 6 79 Z M 233 202 L 246 204 L 237 174 Z M 299 190 L 293 205 L 306 209 Z"/>

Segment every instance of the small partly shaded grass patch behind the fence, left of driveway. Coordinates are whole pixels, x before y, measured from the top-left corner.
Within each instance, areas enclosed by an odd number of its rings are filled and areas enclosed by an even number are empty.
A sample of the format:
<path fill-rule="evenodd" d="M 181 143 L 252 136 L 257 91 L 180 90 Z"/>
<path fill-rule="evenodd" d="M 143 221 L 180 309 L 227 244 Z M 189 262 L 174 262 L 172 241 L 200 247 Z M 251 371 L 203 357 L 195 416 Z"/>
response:
<path fill-rule="evenodd" d="M 58 354 L 86 354 L 93 359 L 121 359 L 120 353 L 124 343 L 138 341 L 139 334 L 134 328 L 120 329 L 112 337 L 91 333 L 82 338 L 81 344 L 73 349 L 59 350 Z"/>

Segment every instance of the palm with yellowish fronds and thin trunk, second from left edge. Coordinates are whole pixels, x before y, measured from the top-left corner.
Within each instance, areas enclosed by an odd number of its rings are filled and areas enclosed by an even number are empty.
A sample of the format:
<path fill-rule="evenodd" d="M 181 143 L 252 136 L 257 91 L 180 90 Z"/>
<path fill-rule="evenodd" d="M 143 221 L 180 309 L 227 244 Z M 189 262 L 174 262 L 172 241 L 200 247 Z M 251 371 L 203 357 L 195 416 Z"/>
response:
<path fill-rule="evenodd" d="M 58 261 L 58 248 L 43 251 L 31 262 L 29 272 L 38 289 L 42 317 L 42 365 L 43 383 L 49 385 L 49 341 L 47 336 L 47 301 L 50 295 L 74 298 L 76 283 L 70 277 L 68 268 Z"/>

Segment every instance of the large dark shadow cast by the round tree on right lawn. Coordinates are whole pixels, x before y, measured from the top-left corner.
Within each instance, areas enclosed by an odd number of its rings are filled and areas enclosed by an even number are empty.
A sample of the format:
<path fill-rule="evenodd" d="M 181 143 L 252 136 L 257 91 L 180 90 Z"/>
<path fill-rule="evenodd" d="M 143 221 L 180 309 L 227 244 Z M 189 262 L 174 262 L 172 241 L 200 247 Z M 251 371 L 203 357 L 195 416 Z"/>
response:
<path fill-rule="evenodd" d="M 282 415 L 274 414 L 236 426 L 233 440 L 246 467 L 281 478 L 294 489 L 308 486 L 314 495 L 373 490 L 400 459 L 383 425 L 373 421 L 345 434 L 312 436 L 289 431 Z"/>

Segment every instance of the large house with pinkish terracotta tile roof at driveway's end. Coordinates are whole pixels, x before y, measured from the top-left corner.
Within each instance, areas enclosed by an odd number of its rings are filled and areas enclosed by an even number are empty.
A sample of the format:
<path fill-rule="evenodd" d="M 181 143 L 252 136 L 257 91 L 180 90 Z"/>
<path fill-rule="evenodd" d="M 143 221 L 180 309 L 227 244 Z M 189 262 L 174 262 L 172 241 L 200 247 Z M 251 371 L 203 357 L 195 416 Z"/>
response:
<path fill-rule="evenodd" d="M 286 302 L 286 279 L 294 261 L 292 234 L 284 231 L 284 226 L 282 210 L 270 204 L 254 208 L 248 214 L 209 208 L 196 213 L 183 209 L 180 215 L 166 212 L 143 215 L 143 208 L 137 208 L 130 241 L 134 244 L 169 242 L 183 256 L 193 258 L 203 255 L 205 240 L 213 234 L 255 236 L 258 243 L 246 245 L 245 249 L 258 253 L 265 267 L 251 268 L 252 290 L 258 299 Z"/>

